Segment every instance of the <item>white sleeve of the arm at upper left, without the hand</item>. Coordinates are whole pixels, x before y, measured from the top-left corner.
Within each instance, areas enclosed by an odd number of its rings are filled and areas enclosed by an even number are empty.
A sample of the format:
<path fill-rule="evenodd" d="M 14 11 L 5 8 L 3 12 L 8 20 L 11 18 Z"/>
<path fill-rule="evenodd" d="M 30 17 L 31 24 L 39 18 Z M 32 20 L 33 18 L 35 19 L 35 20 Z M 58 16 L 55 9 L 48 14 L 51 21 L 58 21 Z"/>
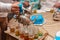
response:
<path fill-rule="evenodd" d="M 0 2 L 0 12 L 11 12 L 11 3 Z"/>

